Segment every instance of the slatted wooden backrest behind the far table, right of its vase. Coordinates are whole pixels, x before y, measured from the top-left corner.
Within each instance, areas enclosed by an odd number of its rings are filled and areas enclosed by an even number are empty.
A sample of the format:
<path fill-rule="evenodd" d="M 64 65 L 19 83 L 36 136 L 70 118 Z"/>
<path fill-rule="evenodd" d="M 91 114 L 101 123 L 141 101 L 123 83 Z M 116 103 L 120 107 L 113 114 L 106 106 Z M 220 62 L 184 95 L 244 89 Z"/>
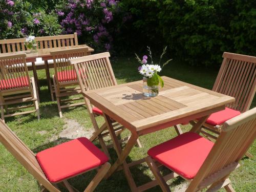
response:
<path fill-rule="evenodd" d="M 37 42 L 37 49 L 78 45 L 77 33 L 70 35 L 35 37 L 35 41 Z"/>

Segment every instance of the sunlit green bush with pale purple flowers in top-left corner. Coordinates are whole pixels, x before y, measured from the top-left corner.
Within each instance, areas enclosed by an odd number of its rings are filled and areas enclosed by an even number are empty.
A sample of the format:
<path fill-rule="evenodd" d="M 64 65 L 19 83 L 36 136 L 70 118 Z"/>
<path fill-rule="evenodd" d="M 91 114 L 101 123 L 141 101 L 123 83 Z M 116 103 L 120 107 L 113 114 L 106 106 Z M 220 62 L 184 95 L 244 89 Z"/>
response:
<path fill-rule="evenodd" d="M 33 9 L 28 1 L 0 1 L 0 39 L 60 33 L 61 27 L 55 12 L 46 13 L 43 9 Z"/>

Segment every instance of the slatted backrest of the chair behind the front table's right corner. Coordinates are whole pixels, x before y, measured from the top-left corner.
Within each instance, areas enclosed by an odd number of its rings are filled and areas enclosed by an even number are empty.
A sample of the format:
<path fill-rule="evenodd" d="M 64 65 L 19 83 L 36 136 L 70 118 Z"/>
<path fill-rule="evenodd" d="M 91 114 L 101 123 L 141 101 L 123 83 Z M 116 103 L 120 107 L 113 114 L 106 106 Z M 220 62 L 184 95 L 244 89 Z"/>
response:
<path fill-rule="evenodd" d="M 229 108 L 245 112 L 256 91 L 256 57 L 223 53 L 223 62 L 213 91 L 236 98 Z"/>

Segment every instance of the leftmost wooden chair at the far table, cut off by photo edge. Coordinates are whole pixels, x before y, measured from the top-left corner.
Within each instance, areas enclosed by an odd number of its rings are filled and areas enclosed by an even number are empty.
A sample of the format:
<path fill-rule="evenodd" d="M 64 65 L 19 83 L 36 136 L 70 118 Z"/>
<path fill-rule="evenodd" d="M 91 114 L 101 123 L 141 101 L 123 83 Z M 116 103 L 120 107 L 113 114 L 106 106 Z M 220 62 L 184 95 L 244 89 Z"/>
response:
<path fill-rule="evenodd" d="M 0 105 L 3 121 L 5 117 L 34 112 L 37 113 L 38 120 L 40 119 L 36 94 L 37 87 L 34 78 L 29 77 L 25 57 L 26 54 L 0 56 Z M 33 104 L 8 109 L 8 105 L 23 102 L 33 102 Z M 31 107 L 34 107 L 35 110 L 9 113 Z M 6 115 L 4 114 L 4 108 L 7 112 Z"/>

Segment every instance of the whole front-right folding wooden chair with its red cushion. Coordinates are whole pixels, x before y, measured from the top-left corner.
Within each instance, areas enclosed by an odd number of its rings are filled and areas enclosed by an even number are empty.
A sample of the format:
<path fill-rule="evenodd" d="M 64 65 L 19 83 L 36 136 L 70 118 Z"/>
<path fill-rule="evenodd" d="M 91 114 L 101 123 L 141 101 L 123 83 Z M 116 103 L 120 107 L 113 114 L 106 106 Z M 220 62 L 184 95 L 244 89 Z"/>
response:
<path fill-rule="evenodd" d="M 177 176 L 190 182 L 187 192 L 208 186 L 208 192 L 222 187 L 234 191 L 228 177 L 240 166 L 239 161 L 256 137 L 256 108 L 226 121 L 219 130 L 216 143 L 187 132 L 148 150 L 146 162 L 156 180 L 142 185 L 139 191 L 157 184 L 163 191 L 170 191 L 166 181 Z M 159 163 L 173 173 L 162 177 Z"/>

